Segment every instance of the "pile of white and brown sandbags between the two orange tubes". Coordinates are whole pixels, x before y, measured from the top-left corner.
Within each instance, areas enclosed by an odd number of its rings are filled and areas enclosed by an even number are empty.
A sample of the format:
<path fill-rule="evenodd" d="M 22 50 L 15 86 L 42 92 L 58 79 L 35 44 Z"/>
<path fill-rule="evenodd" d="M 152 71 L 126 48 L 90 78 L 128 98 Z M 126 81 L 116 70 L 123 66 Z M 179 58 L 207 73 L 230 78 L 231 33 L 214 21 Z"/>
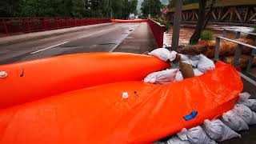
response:
<path fill-rule="evenodd" d="M 215 65 L 209 58 L 203 54 L 186 55 L 178 54 L 175 51 L 169 51 L 165 48 L 159 48 L 149 53 L 150 55 L 161 59 L 164 62 L 179 62 L 177 68 L 172 66 L 170 70 L 162 70 L 148 74 L 144 82 L 154 84 L 170 84 L 180 82 L 185 78 L 193 78 L 206 73 L 208 70 L 214 70 Z"/>

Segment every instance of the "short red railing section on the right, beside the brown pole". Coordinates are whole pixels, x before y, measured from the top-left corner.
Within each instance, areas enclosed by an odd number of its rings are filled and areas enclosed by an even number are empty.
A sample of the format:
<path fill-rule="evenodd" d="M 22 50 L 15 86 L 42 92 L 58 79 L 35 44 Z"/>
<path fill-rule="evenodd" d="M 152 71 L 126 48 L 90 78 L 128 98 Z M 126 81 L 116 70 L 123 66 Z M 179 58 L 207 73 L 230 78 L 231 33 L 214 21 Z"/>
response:
<path fill-rule="evenodd" d="M 148 24 L 150 25 L 150 28 L 154 34 L 154 39 L 157 43 L 157 46 L 162 47 L 166 26 L 160 25 L 158 22 L 154 22 L 151 19 L 148 20 Z"/>

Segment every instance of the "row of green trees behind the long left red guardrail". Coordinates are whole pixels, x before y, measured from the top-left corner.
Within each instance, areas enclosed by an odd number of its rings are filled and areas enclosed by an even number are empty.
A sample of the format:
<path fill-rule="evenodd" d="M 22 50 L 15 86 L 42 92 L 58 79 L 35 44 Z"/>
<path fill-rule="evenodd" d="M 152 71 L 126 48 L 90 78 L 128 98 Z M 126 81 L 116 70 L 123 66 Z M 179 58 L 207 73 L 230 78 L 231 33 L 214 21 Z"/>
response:
<path fill-rule="evenodd" d="M 111 2 L 111 3 L 110 3 Z M 136 13 L 137 0 L 2 0 L 1 17 L 127 18 Z"/>

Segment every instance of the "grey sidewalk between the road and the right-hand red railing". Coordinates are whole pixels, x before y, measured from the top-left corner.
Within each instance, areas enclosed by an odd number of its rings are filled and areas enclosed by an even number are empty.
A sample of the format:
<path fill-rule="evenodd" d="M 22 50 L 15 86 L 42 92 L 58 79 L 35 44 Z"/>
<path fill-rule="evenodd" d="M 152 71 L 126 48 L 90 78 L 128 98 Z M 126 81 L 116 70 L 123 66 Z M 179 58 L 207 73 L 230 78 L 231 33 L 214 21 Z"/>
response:
<path fill-rule="evenodd" d="M 146 51 L 156 49 L 154 35 L 147 22 L 142 22 L 122 43 L 114 50 L 114 52 L 126 52 L 142 54 Z"/>

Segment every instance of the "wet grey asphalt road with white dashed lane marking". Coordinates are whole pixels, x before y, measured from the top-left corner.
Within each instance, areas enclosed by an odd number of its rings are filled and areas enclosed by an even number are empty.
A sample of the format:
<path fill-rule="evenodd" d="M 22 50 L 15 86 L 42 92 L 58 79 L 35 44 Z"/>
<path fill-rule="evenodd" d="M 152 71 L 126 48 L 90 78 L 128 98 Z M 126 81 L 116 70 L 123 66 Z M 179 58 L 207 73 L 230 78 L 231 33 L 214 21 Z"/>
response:
<path fill-rule="evenodd" d="M 49 38 L 0 46 L 0 64 L 62 54 L 114 50 L 139 23 L 110 23 Z"/>

